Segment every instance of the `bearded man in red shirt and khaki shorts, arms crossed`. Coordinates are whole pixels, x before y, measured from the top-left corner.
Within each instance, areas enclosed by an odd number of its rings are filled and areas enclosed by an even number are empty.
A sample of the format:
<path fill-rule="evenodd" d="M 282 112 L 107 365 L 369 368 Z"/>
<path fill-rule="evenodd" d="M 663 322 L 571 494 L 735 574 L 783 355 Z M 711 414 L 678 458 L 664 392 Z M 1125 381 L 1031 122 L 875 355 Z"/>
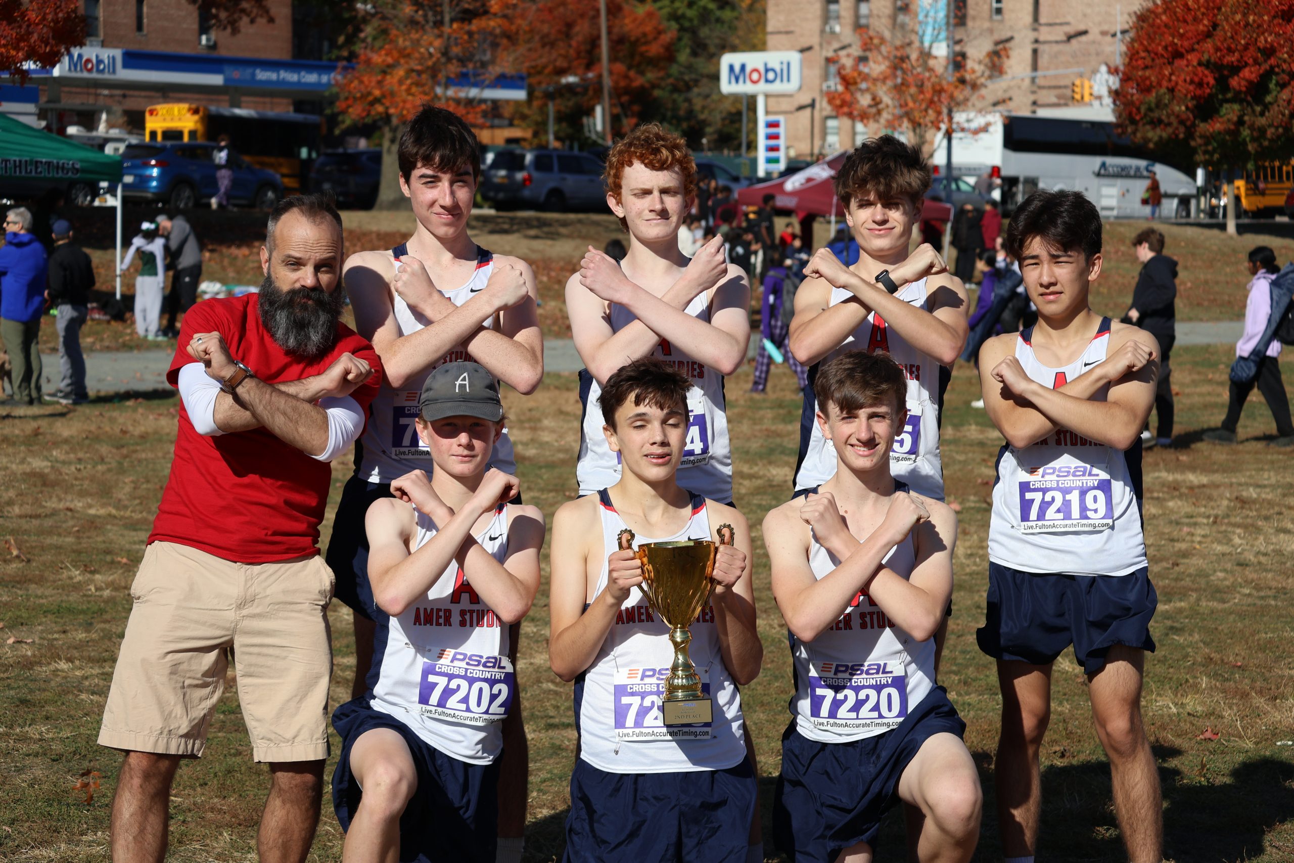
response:
<path fill-rule="evenodd" d="M 318 823 L 333 670 L 318 556 L 329 462 L 364 431 L 382 370 L 339 321 L 342 217 L 329 198 L 269 216 L 259 294 L 184 317 L 167 380 L 182 406 L 171 477 L 131 586 L 98 741 L 126 752 L 113 859 L 166 857 L 171 783 L 202 756 L 234 648 L 252 757 L 268 762 L 261 860 L 304 860 Z"/>

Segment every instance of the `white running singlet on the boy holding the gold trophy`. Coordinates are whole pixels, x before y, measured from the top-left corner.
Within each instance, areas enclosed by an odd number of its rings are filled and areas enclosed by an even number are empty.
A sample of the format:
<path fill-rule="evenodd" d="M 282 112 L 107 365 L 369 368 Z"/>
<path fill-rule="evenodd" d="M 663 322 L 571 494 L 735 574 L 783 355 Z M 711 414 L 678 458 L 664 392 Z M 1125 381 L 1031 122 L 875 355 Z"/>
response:
<path fill-rule="evenodd" d="M 594 598 L 607 589 L 607 558 L 620 547 L 628 525 L 598 492 L 602 514 L 602 574 Z M 710 540 L 705 498 L 692 494 L 692 518 L 670 537 L 635 537 L 634 549 L 647 542 Z M 598 770 L 616 774 L 661 774 L 727 770 L 745 758 L 741 696 L 723 657 L 714 629 L 714 607 L 707 606 L 688 626 L 688 651 L 701 675 L 701 687 L 713 700 L 712 723 L 666 730 L 661 717 L 665 678 L 674 661 L 669 628 L 656 618 L 642 590 L 634 587 L 616 612 L 593 665 L 575 686 L 575 716 L 580 728 L 580 757 Z"/>

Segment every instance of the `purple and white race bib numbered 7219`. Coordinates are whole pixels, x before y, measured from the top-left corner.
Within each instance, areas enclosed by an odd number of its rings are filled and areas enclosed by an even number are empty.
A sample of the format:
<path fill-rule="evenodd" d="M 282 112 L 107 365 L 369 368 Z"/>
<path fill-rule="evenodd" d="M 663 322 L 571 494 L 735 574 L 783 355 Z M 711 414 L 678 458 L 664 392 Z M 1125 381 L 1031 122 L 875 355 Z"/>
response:
<path fill-rule="evenodd" d="M 1101 467 L 1064 457 L 1020 468 L 1020 530 L 1064 533 L 1114 527 L 1110 476 Z"/>

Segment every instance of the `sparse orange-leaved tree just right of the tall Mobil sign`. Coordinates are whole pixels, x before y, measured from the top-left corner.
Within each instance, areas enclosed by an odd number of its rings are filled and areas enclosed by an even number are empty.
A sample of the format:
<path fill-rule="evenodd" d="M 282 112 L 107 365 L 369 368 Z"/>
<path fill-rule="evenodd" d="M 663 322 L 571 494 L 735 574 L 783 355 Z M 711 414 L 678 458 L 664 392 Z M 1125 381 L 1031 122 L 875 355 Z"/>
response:
<path fill-rule="evenodd" d="M 828 57 L 839 88 L 826 100 L 836 115 L 871 129 L 903 132 L 927 158 L 933 155 L 936 136 L 947 131 L 950 110 L 952 132 L 983 131 L 958 120 L 956 113 L 972 107 L 1007 62 L 1005 45 L 992 48 L 974 61 L 964 58 L 950 79 L 947 56 L 934 53 L 934 45 L 943 44 L 945 30 L 930 13 L 939 8 L 924 5 L 914 26 L 895 22 L 888 35 L 859 28 L 857 47 Z"/>

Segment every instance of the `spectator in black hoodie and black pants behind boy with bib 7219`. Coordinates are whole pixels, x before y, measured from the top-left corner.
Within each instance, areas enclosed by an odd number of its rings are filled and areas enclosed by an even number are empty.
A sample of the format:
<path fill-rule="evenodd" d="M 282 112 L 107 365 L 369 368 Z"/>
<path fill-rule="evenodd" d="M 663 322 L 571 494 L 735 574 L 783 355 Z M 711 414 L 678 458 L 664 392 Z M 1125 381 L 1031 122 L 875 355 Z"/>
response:
<path fill-rule="evenodd" d="M 1154 413 L 1158 417 L 1158 433 L 1152 437 L 1149 426 L 1141 433 L 1141 442 L 1152 440 L 1159 446 L 1172 444 L 1172 369 L 1168 367 L 1168 355 L 1178 338 L 1175 300 L 1178 298 L 1178 261 L 1163 254 L 1163 234 L 1154 228 L 1145 228 L 1132 238 L 1136 259 L 1141 261 L 1141 273 L 1132 289 L 1132 307 L 1123 316 L 1124 323 L 1132 323 L 1159 342 L 1159 379 L 1156 383 Z"/>

